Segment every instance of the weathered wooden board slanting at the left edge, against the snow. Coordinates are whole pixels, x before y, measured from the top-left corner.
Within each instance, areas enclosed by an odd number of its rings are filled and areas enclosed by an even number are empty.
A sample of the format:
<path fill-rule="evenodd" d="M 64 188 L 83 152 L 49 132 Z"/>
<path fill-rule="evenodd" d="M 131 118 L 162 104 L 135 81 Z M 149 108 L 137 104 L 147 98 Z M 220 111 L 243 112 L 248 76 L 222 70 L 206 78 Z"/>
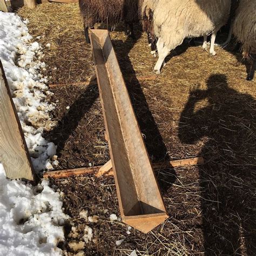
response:
<path fill-rule="evenodd" d="M 6 177 L 34 180 L 28 147 L 1 61 L 0 67 L 0 162 Z"/>

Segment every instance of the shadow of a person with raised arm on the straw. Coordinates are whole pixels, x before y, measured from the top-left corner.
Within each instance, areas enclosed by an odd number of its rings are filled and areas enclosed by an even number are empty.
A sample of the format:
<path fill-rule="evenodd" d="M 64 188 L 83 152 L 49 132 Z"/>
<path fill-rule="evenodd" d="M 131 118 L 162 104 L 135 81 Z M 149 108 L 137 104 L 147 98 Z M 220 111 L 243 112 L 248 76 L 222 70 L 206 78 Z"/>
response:
<path fill-rule="evenodd" d="M 180 141 L 207 141 L 198 166 L 206 255 L 255 254 L 255 117 L 255 99 L 221 74 L 192 91 L 181 113 Z"/>

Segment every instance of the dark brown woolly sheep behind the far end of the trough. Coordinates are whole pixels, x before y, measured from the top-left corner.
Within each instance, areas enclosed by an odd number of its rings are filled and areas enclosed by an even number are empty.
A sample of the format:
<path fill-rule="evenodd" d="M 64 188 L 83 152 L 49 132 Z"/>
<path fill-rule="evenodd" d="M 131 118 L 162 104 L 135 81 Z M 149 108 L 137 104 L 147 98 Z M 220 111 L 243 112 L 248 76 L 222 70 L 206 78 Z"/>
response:
<path fill-rule="evenodd" d="M 80 13 L 83 17 L 86 41 L 89 41 L 88 28 L 96 23 L 116 25 L 124 21 L 129 24 L 131 36 L 134 22 L 139 20 L 139 0 L 79 0 Z M 86 35 L 87 34 L 87 35 Z"/>

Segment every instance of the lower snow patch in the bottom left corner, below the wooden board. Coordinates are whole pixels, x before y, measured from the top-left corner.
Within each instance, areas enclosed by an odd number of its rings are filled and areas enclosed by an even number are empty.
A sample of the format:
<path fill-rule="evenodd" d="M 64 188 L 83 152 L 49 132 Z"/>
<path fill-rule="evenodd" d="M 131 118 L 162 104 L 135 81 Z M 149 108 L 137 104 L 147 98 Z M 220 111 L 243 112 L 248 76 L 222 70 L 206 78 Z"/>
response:
<path fill-rule="evenodd" d="M 7 179 L 0 164 L 1 255 L 60 255 L 57 245 L 64 241 L 60 225 L 66 219 L 60 195 L 49 181 L 33 187 Z"/>

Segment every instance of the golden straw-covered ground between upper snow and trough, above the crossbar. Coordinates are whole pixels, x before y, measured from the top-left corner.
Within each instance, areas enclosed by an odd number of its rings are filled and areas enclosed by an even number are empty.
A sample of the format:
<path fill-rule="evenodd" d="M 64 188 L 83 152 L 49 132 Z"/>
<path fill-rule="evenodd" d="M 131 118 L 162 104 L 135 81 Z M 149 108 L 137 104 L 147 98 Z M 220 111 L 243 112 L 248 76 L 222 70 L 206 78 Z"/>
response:
<path fill-rule="evenodd" d="M 29 19 L 30 33 L 34 38 L 41 37 L 37 40 L 39 43 L 51 45 L 44 50 L 50 80 L 68 83 L 74 82 L 74 78 L 79 82 L 90 77 L 93 72 L 91 50 L 84 42 L 77 4 L 39 4 L 35 10 L 23 7 L 18 14 Z"/>

